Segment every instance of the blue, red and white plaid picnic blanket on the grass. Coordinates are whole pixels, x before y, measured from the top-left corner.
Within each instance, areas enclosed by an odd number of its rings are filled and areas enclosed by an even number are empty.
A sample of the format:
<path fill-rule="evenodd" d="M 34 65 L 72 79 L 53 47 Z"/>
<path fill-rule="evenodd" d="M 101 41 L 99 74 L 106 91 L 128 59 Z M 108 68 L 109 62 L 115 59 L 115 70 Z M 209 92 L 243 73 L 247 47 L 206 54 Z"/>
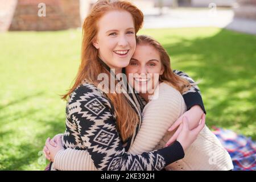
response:
<path fill-rule="evenodd" d="M 213 133 L 229 152 L 234 169 L 233 171 L 256 170 L 256 142 L 230 130 L 213 127 Z"/>

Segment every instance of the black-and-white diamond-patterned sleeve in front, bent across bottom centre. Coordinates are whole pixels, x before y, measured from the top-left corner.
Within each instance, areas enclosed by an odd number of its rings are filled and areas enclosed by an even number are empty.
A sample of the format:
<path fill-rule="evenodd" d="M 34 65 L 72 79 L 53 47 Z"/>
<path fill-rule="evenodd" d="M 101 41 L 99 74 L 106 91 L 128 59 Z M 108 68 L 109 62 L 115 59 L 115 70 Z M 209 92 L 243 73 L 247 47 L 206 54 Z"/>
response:
<path fill-rule="evenodd" d="M 72 94 L 67 106 L 69 126 L 76 126 L 76 143 L 81 140 L 98 170 L 161 170 L 184 157 L 179 142 L 140 155 L 125 151 L 116 129 L 114 113 L 109 101 L 91 84 L 80 86 Z M 65 136 L 64 136 L 65 138 Z M 72 143 L 65 141 L 66 143 Z"/>

